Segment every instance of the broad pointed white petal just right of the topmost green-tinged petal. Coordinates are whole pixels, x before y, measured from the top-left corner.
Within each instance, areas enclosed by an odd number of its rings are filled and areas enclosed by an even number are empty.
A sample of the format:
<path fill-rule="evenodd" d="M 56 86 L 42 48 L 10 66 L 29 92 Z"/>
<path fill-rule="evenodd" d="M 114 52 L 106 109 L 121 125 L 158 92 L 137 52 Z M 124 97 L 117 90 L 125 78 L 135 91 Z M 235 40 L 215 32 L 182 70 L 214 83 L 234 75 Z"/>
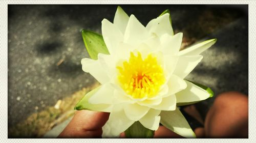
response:
<path fill-rule="evenodd" d="M 146 28 L 138 21 L 134 15 L 131 15 L 124 33 L 124 43 L 137 46 L 149 37 L 150 35 Z"/>

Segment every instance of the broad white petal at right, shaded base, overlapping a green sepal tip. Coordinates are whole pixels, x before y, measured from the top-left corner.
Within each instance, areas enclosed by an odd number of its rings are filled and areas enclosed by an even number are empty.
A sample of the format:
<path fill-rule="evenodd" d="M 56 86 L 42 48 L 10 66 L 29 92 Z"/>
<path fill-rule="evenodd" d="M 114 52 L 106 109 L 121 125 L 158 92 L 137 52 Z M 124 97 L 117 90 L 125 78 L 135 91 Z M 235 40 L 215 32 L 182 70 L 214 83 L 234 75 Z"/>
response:
<path fill-rule="evenodd" d="M 189 102 L 201 101 L 210 97 L 207 91 L 189 81 L 185 80 L 185 82 L 187 83 L 187 88 L 175 94 L 177 103 L 186 105 L 185 103 L 189 104 Z"/>

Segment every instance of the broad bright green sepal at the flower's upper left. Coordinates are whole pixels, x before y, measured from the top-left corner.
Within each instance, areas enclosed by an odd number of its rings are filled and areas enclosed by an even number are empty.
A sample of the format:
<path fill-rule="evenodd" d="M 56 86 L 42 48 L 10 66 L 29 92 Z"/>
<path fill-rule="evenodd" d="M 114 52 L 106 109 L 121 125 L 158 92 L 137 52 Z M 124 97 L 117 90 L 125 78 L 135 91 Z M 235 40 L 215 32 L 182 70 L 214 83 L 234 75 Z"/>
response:
<path fill-rule="evenodd" d="M 109 50 L 106 48 L 102 35 L 88 30 L 82 30 L 82 39 L 93 60 L 98 59 L 98 53 L 109 54 Z"/>

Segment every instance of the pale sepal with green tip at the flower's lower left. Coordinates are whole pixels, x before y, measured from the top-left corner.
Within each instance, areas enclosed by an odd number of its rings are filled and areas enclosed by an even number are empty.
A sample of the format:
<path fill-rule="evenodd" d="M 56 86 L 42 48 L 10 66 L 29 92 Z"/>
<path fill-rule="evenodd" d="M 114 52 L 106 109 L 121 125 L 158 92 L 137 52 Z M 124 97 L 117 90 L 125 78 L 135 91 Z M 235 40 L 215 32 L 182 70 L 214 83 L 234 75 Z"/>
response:
<path fill-rule="evenodd" d="M 93 110 L 93 111 L 103 111 L 108 112 L 110 105 L 107 104 L 90 104 L 88 102 L 89 98 L 96 93 L 100 87 L 87 93 L 75 106 L 75 110 Z"/>

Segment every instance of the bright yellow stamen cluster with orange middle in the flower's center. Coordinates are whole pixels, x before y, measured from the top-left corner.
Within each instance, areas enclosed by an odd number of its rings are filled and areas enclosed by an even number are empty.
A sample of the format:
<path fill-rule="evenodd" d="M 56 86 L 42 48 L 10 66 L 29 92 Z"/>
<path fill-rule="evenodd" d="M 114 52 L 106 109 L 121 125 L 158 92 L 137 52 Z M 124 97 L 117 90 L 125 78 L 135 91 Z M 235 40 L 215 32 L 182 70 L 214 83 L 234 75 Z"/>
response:
<path fill-rule="evenodd" d="M 131 52 L 129 61 L 116 68 L 122 89 L 133 98 L 154 97 L 165 82 L 163 69 L 152 54 L 143 60 L 140 52 L 137 56 Z"/>

